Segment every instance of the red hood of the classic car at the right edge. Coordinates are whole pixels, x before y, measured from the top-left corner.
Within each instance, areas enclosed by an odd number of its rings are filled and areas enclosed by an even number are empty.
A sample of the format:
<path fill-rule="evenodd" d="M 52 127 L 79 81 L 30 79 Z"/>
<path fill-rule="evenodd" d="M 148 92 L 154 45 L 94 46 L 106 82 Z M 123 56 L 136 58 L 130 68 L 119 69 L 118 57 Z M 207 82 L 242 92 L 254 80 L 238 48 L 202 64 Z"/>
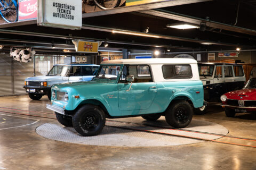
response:
<path fill-rule="evenodd" d="M 225 94 L 228 99 L 233 100 L 256 100 L 256 89 L 242 89 L 230 91 Z"/>

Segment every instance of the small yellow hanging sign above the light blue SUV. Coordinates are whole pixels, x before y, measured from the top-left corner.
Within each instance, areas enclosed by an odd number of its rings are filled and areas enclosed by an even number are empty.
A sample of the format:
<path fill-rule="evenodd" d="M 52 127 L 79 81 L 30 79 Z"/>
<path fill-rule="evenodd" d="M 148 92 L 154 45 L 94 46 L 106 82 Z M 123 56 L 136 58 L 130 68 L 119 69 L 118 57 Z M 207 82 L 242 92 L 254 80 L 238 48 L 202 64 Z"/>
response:
<path fill-rule="evenodd" d="M 82 41 L 82 40 L 72 40 L 73 44 L 75 45 L 76 52 L 83 52 L 83 53 L 98 53 L 99 42 L 92 42 L 92 41 Z"/>

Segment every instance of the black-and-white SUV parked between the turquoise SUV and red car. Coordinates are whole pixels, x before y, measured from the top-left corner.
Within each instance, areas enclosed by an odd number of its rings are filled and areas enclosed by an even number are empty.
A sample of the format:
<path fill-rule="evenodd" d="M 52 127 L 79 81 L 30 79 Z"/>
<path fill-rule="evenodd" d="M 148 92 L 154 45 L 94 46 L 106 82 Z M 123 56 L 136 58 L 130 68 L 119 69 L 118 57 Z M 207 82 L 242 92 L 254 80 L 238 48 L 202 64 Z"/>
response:
<path fill-rule="evenodd" d="M 228 91 L 242 89 L 245 84 L 243 65 L 231 63 L 198 63 L 200 80 L 204 86 L 204 100 L 220 101 L 220 96 Z M 195 109 L 196 114 L 204 114 L 206 105 Z"/>

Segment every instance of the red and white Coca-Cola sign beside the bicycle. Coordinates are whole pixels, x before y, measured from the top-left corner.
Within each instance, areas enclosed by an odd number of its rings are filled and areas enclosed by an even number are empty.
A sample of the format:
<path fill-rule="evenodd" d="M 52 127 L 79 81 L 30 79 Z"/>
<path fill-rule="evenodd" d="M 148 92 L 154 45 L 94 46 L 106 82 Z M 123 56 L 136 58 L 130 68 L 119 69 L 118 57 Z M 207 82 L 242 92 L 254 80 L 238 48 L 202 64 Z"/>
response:
<path fill-rule="evenodd" d="M 19 0 L 19 21 L 37 19 L 37 0 Z"/>

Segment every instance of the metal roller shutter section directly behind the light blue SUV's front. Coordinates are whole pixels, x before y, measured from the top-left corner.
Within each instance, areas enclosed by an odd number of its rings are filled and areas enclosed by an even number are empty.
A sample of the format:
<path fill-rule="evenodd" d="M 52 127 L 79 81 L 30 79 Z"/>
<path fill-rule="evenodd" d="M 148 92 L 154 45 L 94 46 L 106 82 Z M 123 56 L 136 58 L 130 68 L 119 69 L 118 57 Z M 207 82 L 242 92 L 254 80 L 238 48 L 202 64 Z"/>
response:
<path fill-rule="evenodd" d="M 29 77 L 34 77 L 33 61 L 30 61 L 28 63 L 13 61 L 13 84 L 15 95 L 26 94 L 26 90 L 23 88 L 23 86 L 25 79 Z"/>

